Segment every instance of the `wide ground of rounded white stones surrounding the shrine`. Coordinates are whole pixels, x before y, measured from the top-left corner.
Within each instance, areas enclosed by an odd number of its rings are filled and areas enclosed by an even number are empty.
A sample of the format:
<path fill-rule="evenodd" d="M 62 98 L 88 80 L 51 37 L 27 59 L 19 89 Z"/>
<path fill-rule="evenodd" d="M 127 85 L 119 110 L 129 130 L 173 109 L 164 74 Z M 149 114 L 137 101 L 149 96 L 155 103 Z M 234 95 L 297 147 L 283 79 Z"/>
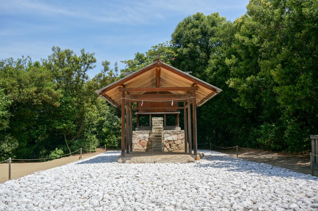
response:
<path fill-rule="evenodd" d="M 195 163 L 107 152 L 0 184 L 0 210 L 318 210 L 318 178 L 202 150 Z"/>

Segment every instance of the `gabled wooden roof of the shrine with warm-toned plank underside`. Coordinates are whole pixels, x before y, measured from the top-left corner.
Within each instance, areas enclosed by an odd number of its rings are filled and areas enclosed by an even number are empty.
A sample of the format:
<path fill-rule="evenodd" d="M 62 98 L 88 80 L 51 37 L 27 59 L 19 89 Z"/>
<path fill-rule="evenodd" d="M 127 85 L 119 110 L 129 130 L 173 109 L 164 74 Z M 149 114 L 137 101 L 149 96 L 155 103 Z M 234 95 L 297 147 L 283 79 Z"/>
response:
<path fill-rule="evenodd" d="M 160 75 L 157 75 L 157 67 L 160 67 Z M 160 78 L 157 78 L 160 77 Z M 206 101 L 214 97 L 222 90 L 211 84 L 208 84 L 196 77 L 193 77 L 181 70 L 178 70 L 157 59 L 152 64 L 133 72 L 132 74 L 121 78 L 114 83 L 95 91 L 101 97 L 106 99 L 115 107 L 121 106 L 121 92 L 119 88 L 124 85 L 125 88 L 149 88 L 157 87 L 192 87 L 194 84 L 198 87 L 196 91 L 197 106 L 203 105 Z M 188 91 L 169 91 L 172 94 L 186 94 Z M 143 94 L 145 92 L 129 92 L 129 94 Z"/>

